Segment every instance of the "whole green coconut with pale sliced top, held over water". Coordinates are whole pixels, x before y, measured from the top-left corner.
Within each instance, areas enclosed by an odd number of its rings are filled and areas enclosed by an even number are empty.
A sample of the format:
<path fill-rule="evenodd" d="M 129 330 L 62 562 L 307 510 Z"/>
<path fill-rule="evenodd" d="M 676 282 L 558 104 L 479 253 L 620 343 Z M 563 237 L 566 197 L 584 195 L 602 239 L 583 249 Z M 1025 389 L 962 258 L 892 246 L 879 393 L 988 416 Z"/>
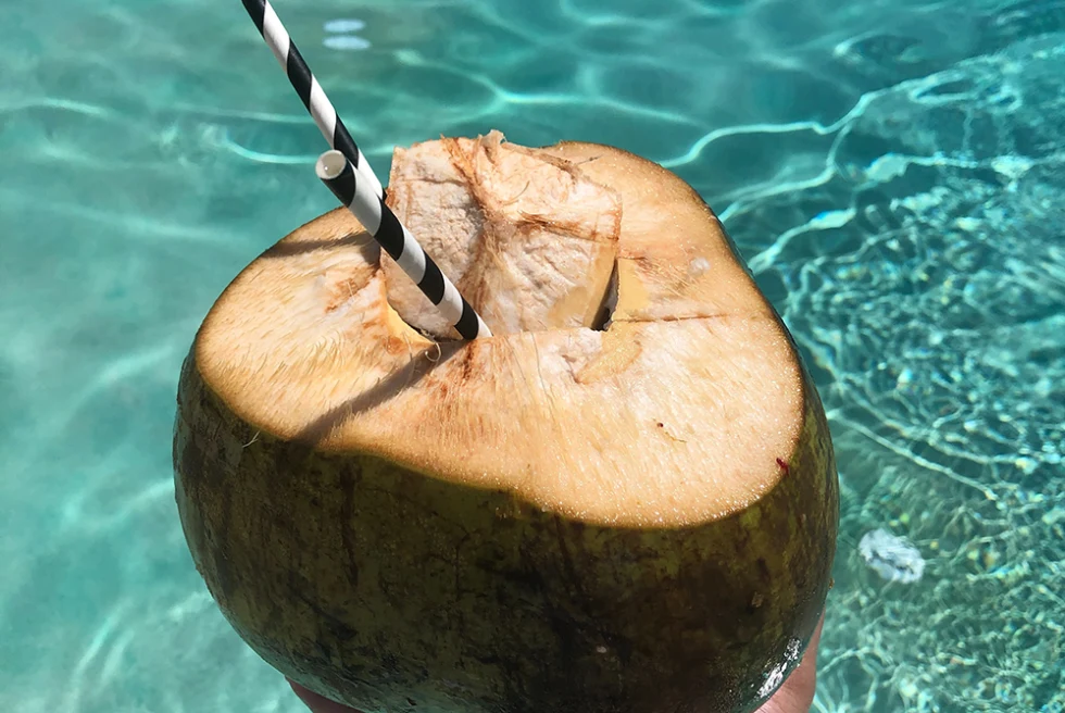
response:
<path fill-rule="evenodd" d="M 215 303 L 177 503 L 267 662 L 365 713 L 751 711 L 827 593 L 820 402 L 716 216 L 610 147 L 398 149 L 458 335 L 342 210 Z"/>

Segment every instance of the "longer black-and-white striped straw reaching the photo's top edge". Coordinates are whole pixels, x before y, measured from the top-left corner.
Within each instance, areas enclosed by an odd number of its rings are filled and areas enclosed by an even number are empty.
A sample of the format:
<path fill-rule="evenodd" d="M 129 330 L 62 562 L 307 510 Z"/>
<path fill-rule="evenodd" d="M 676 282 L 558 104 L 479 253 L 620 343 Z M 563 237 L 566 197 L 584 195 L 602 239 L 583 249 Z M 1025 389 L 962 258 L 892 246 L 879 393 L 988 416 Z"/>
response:
<path fill-rule="evenodd" d="M 377 175 L 369 167 L 366 157 L 362 154 L 354 139 L 351 138 L 351 134 L 348 133 L 348 128 L 337 114 L 337 110 L 334 109 L 333 102 L 325 96 L 322 85 L 311 74 L 311 67 L 303 61 L 303 55 L 300 54 L 296 42 L 285 29 L 285 25 L 281 24 L 277 13 L 274 12 L 274 8 L 267 0 L 242 1 L 245 10 L 251 15 L 259 33 L 266 40 L 266 45 L 277 58 L 281 68 L 285 70 L 289 82 L 292 83 L 292 88 L 303 100 L 303 105 L 311 112 L 311 116 L 314 117 L 314 123 L 318 125 L 325 140 L 351 161 L 377 196 L 384 196 L 385 189 L 381 187 L 380 180 L 377 179 Z"/>

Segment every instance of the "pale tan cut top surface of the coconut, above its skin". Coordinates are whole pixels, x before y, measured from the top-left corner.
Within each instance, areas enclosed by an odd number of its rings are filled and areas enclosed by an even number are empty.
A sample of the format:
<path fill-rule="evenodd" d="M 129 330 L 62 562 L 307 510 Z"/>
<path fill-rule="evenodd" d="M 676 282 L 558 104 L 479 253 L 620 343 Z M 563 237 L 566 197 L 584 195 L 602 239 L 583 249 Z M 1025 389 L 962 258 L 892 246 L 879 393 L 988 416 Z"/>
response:
<path fill-rule="evenodd" d="M 549 248 L 552 240 L 596 242 L 589 236 L 609 236 L 604 226 L 617 223 L 613 240 L 574 258 L 598 265 L 616 250 L 617 303 L 605 329 L 565 320 L 521 328 L 529 314 L 543 320 L 554 308 L 518 289 L 523 283 L 492 282 L 491 271 L 467 263 L 465 275 L 485 289 L 503 285 L 508 297 L 490 302 L 496 309 L 510 301 L 529 311 L 518 311 L 524 316 L 509 332 L 490 322 L 492 338 L 438 343 L 400 316 L 380 251 L 338 210 L 277 243 L 226 289 L 196 345 L 204 381 L 235 414 L 276 437 L 511 491 L 585 522 L 679 526 L 755 502 L 797 450 L 805 387 L 787 333 L 717 218 L 677 176 L 630 153 L 562 143 L 491 158 L 499 146 L 460 141 L 448 151 L 485 162 L 476 190 L 500 204 L 515 198 L 509 162 L 547 157 L 539 170 L 550 178 L 531 180 L 539 188 L 499 209 L 492 220 L 504 229 L 497 235 L 535 211 L 574 226 L 546 234 Z M 410 192 L 396 200 L 421 201 L 406 220 L 428 226 L 438 208 L 449 224 L 475 220 L 462 192 L 435 192 L 434 182 L 417 178 L 418 166 L 448 151 L 400 162 L 411 173 L 393 179 Z M 497 186 L 492 166 L 500 165 Z M 584 203 L 574 198 L 582 190 L 590 196 Z M 557 215 L 549 215 L 551 205 L 561 207 Z M 509 250 L 489 251 L 493 261 L 508 255 L 492 264 L 511 270 Z M 588 267 L 594 291 L 611 271 Z M 571 314 L 587 316 L 602 299 L 599 292 Z"/>

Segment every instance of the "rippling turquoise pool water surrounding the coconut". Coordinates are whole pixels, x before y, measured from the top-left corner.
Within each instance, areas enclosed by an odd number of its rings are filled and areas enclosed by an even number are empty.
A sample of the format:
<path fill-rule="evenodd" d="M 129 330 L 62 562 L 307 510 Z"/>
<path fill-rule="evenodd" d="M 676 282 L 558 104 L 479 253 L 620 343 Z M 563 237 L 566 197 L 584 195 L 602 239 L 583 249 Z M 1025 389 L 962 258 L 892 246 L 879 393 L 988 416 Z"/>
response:
<path fill-rule="evenodd" d="M 379 175 L 499 128 L 723 216 L 839 459 L 814 710 L 1063 710 L 1065 3 L 277 8 Z M 5 2 L 0 70 L 0 711 L 299 711 L 192 568 L 170 447 L 212 301 L 334 207 L 321 136 L 237 0 Z"/>

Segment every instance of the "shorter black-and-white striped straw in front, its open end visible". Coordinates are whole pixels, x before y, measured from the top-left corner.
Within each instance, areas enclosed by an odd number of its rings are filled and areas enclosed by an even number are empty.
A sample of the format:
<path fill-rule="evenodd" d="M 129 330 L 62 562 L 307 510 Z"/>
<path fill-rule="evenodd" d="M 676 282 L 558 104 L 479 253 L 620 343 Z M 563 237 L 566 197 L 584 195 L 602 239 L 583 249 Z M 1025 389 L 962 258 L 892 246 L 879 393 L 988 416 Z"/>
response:
<path fill-rule="evenodd" d="M 488 325 L 440 272 L 410 230 L 362 180 L 362 174 L 352 170 L 348 157 L 340 151 L 326 151 L 318 157 L 315 172 L 464 339 L 492 336 Z"/>

